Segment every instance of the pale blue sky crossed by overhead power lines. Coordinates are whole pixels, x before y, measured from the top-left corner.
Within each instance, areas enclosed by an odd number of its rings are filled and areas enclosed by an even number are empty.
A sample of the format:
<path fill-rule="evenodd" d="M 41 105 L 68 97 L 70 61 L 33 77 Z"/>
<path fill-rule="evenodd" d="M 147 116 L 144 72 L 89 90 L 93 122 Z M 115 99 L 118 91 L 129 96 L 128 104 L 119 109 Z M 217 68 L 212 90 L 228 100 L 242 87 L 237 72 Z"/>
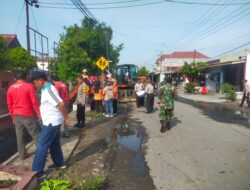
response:
<path fill-rule="evenodd" d="M 164 0 L 132 1 L 82 0 L 99 22 L 111 26 L 111 43 L 115 46 L 124 44 L 119 64 L 152 69 L 161 54 L 174 51 L 197 50 L 215 58 L 229 50 L 250 49 L 250 0 L 182 0 L 212 4 L 249 3 L 232 6 L 180 4 Z M 74 7 L 58 4 L 71 4 L 71 0 L 39 0 L 38 3 L 39 8 L 29 7 L 30 26 L 48 37 L 49 52 L 53 56 L 53 43 L 59 41 L 65 32 L 64 27 L 79 25 L 84 15 L 77 9 L 44 7 Z M 139 6 L 121 7 L 128 5 Z M 1 34 L 17 34 L 22 47 L 26 48 L 24 0 L 0 0 L 0 23 Z M 31 41 L 34 47 L 32 38 Z"/>

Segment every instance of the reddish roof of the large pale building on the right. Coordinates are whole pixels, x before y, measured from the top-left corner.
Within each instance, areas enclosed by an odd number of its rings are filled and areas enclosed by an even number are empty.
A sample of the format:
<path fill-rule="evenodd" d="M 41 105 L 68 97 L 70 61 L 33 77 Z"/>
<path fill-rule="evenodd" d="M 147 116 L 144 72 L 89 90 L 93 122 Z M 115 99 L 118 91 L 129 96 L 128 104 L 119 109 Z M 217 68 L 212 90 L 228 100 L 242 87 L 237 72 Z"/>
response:
<path fill-rule="evenodd" d="M 176 51 L 172 54 L 163 54 L 157 61 L 163 61 L 165 59 L 186 59 L 186 58 L 196 58 L 196 59 L 209 59 L 208 56 L 196 51 Z"/>

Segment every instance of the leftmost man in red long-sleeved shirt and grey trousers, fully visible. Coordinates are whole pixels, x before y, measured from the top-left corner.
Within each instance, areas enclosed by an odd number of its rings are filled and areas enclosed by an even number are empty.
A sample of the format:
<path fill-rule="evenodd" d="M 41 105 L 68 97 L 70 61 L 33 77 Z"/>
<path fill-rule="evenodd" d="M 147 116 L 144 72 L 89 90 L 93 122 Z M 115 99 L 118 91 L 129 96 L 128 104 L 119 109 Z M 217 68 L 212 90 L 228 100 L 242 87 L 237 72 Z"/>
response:
<path fill-rule="evenodd" d="M 34 87 L 25 81 L 26 74 L 18 72 L 15 80 L 16 82 L 8 89 L 7 104 L 15 124 L 19 157 L 25 159 L 28 156 L 24 143 L 25 129 L 37 144 L 40 131 L 38 120 L 41 115 Z"/>

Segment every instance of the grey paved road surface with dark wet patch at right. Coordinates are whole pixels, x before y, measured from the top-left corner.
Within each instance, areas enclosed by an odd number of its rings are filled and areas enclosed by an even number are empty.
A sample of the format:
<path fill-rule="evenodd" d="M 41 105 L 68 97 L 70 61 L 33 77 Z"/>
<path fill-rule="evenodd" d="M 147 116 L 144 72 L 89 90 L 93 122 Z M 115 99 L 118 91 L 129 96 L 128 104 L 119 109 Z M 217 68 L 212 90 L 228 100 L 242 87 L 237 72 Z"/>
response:
<path fill-rule="evenodd" d="M 157 189 L 249 190 L 250 124 L 232 112 L 180 99 L 172 129 L 160 133 L 158 111 L 132 117 L 149 135 L 146 162 Z"/>

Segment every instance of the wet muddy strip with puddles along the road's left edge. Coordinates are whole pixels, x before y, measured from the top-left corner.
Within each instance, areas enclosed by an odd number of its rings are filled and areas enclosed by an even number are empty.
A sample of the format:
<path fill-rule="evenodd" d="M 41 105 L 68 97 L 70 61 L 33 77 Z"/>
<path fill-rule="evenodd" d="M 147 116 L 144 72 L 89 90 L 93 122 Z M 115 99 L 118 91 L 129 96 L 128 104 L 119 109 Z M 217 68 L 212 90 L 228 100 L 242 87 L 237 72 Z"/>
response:
<path fill-rule="evenodd" d="M 153 190 L 153 180 L 144 159 L 146 133 L 139 122 L 121 119 L 112 133 L 117 150 L 112 167 L 113 180 L 109 189 Z"/>

